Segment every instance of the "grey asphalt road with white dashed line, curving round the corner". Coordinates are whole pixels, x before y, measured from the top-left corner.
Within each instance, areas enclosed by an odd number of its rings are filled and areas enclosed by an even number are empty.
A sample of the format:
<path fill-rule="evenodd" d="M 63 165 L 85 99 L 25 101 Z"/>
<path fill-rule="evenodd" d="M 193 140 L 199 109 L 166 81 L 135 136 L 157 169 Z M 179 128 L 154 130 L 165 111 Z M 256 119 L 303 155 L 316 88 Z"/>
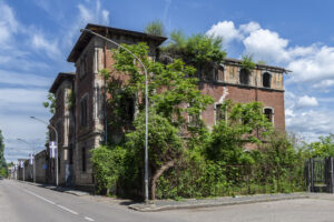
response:
<path fill-rule="evenodd" d="M 141 213 L 129 210 L 121 201 L 76 196 L 22 182 L 0 180 L 0 222 L 7 221 L 334 222 L 334 195 Z"/>

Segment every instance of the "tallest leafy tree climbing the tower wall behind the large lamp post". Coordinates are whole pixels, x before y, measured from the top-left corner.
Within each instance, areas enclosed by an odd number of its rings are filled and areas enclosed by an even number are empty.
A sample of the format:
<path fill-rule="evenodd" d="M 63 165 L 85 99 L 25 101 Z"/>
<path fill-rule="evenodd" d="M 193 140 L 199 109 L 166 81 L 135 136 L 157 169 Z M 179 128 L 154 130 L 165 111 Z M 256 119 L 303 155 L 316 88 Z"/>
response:
<path fill-rule="evenodd" d="M 150 150 L 161 149 L 159 151 L 154 150 L 155 152 L 150 154 L 150 157 L 155 157 L 150 165 L 153 172 L 153 196 L 155 196 L 156 178 L 173 165 L 174 159 L 177 158 L 174 153 L 178 153 L 179 151 L 177 150 L 181 148 L 180 142 L 177 145 L 173 145 L 168 140 L 173 139 L 177 143 L 177 141 L 180 141 L 179 134 L 185 129 L 188 129 L 191 137 L 196 138 L 200 131 L 197 130 L 198 128 L 194 128 L 193 124 L 202 125 L 202 128 L 204 124 L 199 118 L 194 118 L 191 123 L 188 122 L 187 115 L 199 117 L 199 113 L 206 109 L 207 104 L 213 102 L 213 99 L 204 95 L 198 90 L 198 79 L 195 78 L 196 69 L 186 65 L 181 60 L 175 60 L 166 65 L 150 60 L 148 58 L 148 47 L 144 43 L 124 47 L 140 58 L 148 73 L 150 73 L 148 77 L 149 124 L 151 125 L 149 127 L 149 133 L 156 132 L 157 134 L 149 140 L 149 147 Z M 114 130 L 117 128 L 118 132 L 124 132 L 126 138 L 137 138 L 136 140 L 127 139 L 126 141 L 137 141 L 131 148 L 136 147 L 143 150 L 144 140 L 138 140 L 138 137 L 140 135 L 144 139 L 145 134 L 141 131 L 141 127 L 145 125 L 143 119 L 145 110 L 145 75 L 140 64 L 137 61 L 134 62 L 132 56 L 127 51 L 122 49 L 116 50 L 114 59 L 116 61 L 114 64 L 115 71 L 104 70 L 101 73 L 108 82 L 108 92 L 112 95 L 108 101 L 109 107 L 112 107 L 110 109 L 110 114 L 112 115 L 110 124 L 115 127 Z M 119 73 L 126 73 L 126 77 L 121 77 Z M 124 79 L 126 81 L 122 81 Z M 132 104 L 134 108 L 130 109 L 129 104 Z M 129 110 L 134 112 L 136 118 L 129 118 Z M 132 122 L 134 120 L 135 122 Z M 156 124 L 156 122 L 159 124 Z M 164 135 L 161 132 L 169 134 Z M 156 140 L 159 137 L 160 139 Z M 115 142 L 117 141 L 111 140 L 111 143 Z M 125 145 L 128 147 L 129 144 L 127 142 Z"/>

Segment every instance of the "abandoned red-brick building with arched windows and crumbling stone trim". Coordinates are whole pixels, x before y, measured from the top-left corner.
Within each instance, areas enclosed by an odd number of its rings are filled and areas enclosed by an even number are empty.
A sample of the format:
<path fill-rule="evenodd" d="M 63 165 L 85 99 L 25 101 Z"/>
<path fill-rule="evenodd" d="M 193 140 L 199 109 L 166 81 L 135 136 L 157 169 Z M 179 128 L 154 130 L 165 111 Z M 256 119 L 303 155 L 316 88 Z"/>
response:
<path fill-rule="evenodd" d="M 87 24 L 86 29 L 110 38 L 118 43 L 146 42 L 150 57 L 155 58 L 164 37 Z M 68 62 L 76 67 L 75 73 L 59 73 L 50 92 L 57 98 L 56 113 L 50 123 L 58 129 L 59 183 L 92 188 L 95 184 L 89 150 L 106 140 L 106 114 L 104 78 L 99 70 L 111 69 L 111 49 L 115 46 L 89 32 L 82 32 L 71 50 Z M 284 73 L 283 68 L 257 64 L 250 73 L 242 69 L 239 60 L 225 59 L 218 68 L 200 75 L 199 89 L 212 95 L 215 103 L 202 113 L 212 128 L 222 114 L 219 105 L 226 99 L 235 102 L 259 101 L 264 113 L 284 131 Z M 55 134 L 50 133 L 51 139 Z M 49 162 L 50 180 L 55 181 L 55 161 Z"/>

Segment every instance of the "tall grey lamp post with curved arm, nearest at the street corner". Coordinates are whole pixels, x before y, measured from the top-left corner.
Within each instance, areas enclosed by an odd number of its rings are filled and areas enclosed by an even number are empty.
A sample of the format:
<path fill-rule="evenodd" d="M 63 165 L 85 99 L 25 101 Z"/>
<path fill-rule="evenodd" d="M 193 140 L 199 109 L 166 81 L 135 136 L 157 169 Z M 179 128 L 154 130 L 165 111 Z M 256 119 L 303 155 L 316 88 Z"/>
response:
<path fill-rule="evenodd" d="M 129 54 L 131 54 L 141 65 L 144 72 L 145 72 L 145 202 L 148 203 L 148 79 L 147 79 L 147 69 L 141 62 L 141 60 L 134 54 L 130 50 L 127 48 L 122 47 L 121 44 L 117 43 L 116 41 L 112 41 L 111 39 L 108 39 L 101 34 L 98 34 L 89 29 L 81 29 L 81 32 L 88 32 L 94 36 L 97 36 L 108 42 L 111 42 L 112 44 L 124 49 L 127 51 Z M 106 114 L 106 113 L 105 113 Z"/>

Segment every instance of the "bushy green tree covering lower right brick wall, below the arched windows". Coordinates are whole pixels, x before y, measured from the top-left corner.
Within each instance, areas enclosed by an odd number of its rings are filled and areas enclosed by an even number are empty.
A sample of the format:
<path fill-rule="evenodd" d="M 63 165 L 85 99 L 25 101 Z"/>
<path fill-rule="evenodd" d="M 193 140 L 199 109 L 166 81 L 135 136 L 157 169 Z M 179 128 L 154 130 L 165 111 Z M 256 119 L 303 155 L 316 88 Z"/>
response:
<path fill-rule="evenodd" d="M 263 114 L 259 102 L 236 103 L 227 100 L 222 105 L 222 113 L 226 113 L 214 127 L 206 153 L 208 159 L 223 161 L 224 164 L 245 164 L 254 162 L 248 153 L 244 152 L 246 143 L 257 147 L 267 134 L 273 132 L 272 123 Z"/>

